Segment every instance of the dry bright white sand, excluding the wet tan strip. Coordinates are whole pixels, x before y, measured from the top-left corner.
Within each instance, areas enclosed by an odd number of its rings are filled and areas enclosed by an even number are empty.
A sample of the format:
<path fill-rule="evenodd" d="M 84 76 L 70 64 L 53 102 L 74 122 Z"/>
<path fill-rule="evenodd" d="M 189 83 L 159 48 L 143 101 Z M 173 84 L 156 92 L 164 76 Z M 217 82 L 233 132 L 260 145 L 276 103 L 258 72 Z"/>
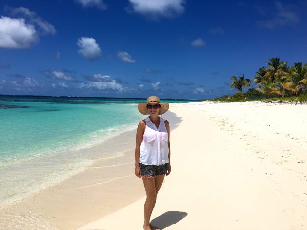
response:
<path fill-rule="evenodd" d="M 307 228 L 307 104 L 203 102 L 170 111 L 182 122 L 171 132 L 172 173 L 158 194 L 153 225 Z M 142 229 L 144 201 L 79 230 Z"/>

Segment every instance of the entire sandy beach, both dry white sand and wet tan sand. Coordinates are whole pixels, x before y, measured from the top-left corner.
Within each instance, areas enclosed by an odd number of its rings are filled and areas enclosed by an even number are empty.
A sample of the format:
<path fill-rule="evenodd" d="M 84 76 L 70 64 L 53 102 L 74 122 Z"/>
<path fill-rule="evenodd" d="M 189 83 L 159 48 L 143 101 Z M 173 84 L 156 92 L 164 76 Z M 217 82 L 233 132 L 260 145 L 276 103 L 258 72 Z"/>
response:
<path fill-rule="evenodd" d="M 172 172 L 158 194 L 153 225 L 307 229 L 306 103 L 178 103 L 170 112 L 180 123 L 169 112 L 163 116 L 172 130 Z M 142 229 L 145 191 L 134 175 L 135 131 L 103 148 L 115 146 L 122 146 L 122 156 L 97 159 L 83 172 L 3 208 L 0 221 L 15 215 L 12 229 L 20 229 L 17 217 L 31 214 L 47 222 L 32 226 L 29 219 L 23 229 Z"/>

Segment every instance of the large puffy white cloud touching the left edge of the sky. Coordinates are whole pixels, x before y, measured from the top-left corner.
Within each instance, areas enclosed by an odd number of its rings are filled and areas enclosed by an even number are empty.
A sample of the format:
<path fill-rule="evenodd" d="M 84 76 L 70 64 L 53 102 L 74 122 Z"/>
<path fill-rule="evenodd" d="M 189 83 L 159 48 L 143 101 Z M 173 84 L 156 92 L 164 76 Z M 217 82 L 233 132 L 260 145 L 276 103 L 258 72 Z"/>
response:
<path fill-rule="evenodd" d="M 39 40 L 33 25 L 25 19 L 0 18 L 0 48 L 28 48 Z"/>

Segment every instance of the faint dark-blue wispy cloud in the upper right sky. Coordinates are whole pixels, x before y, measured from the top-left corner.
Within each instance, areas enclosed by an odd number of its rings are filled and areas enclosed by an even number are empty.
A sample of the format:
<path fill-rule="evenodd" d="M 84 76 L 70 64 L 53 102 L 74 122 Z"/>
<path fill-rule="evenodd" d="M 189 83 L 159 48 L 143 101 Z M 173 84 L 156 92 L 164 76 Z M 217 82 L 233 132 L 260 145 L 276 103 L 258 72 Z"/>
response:
<path fill-rule="evenodd" d="M 270 20 L 259 21 L 259 27 L 274 29 L 277 26 L 293 25 L 299 21 L 298 15 L 291 11 L 289 6 L 285 7 L 281 2 L 275 1 L 275 8 L 274 17 Z"/>

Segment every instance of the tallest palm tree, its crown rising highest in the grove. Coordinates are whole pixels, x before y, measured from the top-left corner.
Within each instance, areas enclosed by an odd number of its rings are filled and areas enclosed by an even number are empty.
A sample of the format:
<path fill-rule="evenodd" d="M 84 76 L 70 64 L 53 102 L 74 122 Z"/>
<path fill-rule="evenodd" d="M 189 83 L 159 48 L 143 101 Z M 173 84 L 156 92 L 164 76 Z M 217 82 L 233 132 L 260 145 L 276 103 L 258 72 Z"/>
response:
<path fill-rule="evenodd" d="M 264 75 L 264 80 L 272 79 L 275 82 L 275 78 L 286 75 L 287 72 L 287 62 L 280 62 L 280 58 L 271 58 L 269 62 L 266 63 L 269 68 L 267 73 Z"/>

